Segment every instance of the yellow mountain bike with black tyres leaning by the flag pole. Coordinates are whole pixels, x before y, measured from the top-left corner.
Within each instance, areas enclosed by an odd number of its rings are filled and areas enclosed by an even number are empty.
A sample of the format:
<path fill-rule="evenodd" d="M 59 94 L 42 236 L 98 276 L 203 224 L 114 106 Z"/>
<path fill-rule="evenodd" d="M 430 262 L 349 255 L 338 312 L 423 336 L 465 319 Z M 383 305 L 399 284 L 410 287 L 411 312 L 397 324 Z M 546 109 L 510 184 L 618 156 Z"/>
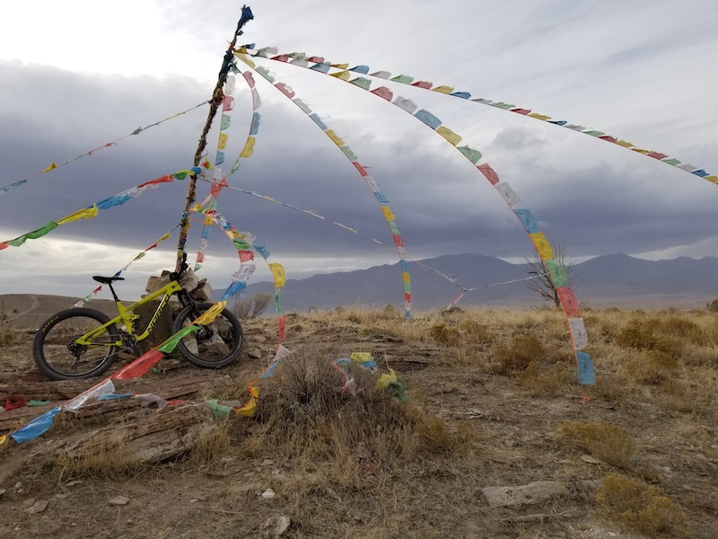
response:
<path fill-rule="evenodd" d="M 172 323 L 177 333 L 205 313 L 213 305 L 196 302 L 178 282 L 188 266 L 181 264 L 180 271 L 170 274 L 170 283 L 156 292 L 145 296 L 132 305 L 122 305 L 112 283 L 124 280 L 121 277 L 93 277 L 99 283 L 108 285 L 119 314 L 109 318 L 107 314 L 94 309 L 73 307 L 60 311 L 48 318 L 39 327 L 32 345 L 32 355 L 39 369 L 53 380 L 68 380 L 99 376 L 117 358 L 120 351 L 131 350 L 138 355 L 137 342 L 146 339 L 162 314 L 171 296 L 180 299 L 182 310 Z M 135 331 L 139 315 L 134 310 L 147 302 L 162 296 L 160 304 L 140 333 Z M 176 351 L 197 367 L 225 367 L 239 358 L 243 335 L 241 324 L 229 309 L 208 325 L 201 325 L 177 344 Z"/>

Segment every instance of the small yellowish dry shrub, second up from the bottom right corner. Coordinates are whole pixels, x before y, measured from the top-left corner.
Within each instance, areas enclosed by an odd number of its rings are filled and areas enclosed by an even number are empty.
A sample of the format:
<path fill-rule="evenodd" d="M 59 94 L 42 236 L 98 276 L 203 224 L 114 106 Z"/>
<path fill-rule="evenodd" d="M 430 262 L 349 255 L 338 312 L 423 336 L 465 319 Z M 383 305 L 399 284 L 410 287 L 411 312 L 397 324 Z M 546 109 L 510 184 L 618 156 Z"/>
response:
<path fill-rule="evenodd" d="M 628 431 L 605 421 L 565 421 L 556 430 L 554 440 L 560 446 L 586 451 L 619 468 L 630 466 L 635 453 L 635 443 Z"/>

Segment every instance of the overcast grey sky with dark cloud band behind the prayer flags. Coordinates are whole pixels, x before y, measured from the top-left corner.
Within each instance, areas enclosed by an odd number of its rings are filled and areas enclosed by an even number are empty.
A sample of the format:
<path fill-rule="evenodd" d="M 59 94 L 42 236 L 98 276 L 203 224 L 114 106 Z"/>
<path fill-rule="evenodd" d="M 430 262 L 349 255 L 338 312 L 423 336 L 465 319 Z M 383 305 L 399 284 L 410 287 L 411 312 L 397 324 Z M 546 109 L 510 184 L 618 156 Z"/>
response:
<path fill-rule="evenodd" d="M 566 119 L 718 172 L 718 10 L 714 0 L 264 0 L 240 42 L 303 51 L 371 72 L 412 75 L 472 97 Z M 3 4 L 0 33 L 0 241 L 192 164 L 208 108 L 127 137 L 206 101 L 241 4 L 124 0 Z M 12 22 L 12 23 L 10 23 Z M 258 61 L 307 100 L 371 166 L 415 259 L 477 252 L 516 261 L 531 243 L 494 188 L 454 148 L 387 102 L 327 75 Z M 240 63 L 242 69 L 243 66 Z M 311 119 L 255 77 L 262 116 L 254 155 L 230 177 L 391 244 L 371 190 Z M 484 155 L 549 239 L 577 259 L 718 256 L 718 187 L 644 155 L 477 102 L 391 84 Z M 238 77 L 227 161 L 249 129 Z M 215 155 L 217 128 L 210 131 Z M 229 168 L 227 166 L 227 168 Z M 200 197 L 207 192 L 200 185 Z M 84 296 L 180 220 L 175 181 L 0 252 L 0 293 Z M 397 261 L 396 252 L 291 209 L 224 190 L 218 210 L 267 244 L 287 278 Z M 201 225 L 192 225 L 194 260 Z M 125 273 L 134 296 L 171 268 L 176 232 Z M 237 268 L 213 233 L 203 274 L 215 289 Z M 417 269 L 418 270 L 418 269 Z M 259 267 L 258 278 L 267 278 Z"/>

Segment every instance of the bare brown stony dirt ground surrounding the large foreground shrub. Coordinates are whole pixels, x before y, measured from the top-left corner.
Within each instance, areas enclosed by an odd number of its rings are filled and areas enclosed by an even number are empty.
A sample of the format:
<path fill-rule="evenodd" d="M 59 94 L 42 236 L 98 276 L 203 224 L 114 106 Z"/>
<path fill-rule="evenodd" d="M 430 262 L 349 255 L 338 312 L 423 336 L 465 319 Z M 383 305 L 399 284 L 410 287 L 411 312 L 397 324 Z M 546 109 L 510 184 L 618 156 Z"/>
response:
<path fill-rule="evenodd" d="M 197 403 L 212 397 L 246 399 L 247 383 L 276 349 L 276 321 L 258 319 L 244 326 L 246 343 L 238 364 L 211 371 L 169 359 L 123 389 Z M 400 373 L 411 402 L 452 429 L 467 429 L 483 450 L 461 457 L 438 451 L 433 459 L 372 469 L 371 457 L 363 457 L 357 447 L 357 462 L 363 464 L 347 473 L 361 476 L 343 482 L 336 472 L 325 474 L 327 468 L 319 463 L 299 466 L 271 447 L 253 455 L 248 440 L 259 427 L 253 419 L 237 417 L 226 426 L 229 446 L 205 461 L 187 456 L 125 474 L 69 473 L 57 464 L 57 456 L 76 437 L 158 413 L 122 408 L 63 419 L 36 440 L 0 447 L 0 537 L 645 536 L 594 514 L 595 489 L 583 488 L 582 482 L 598 484 L 616 469 L 557 445 L 554 435 L 565 420 L 609 421 L 627 429 L 637 447 L 635 475 L 660 485 L 679 505 L 690 527 L 687 536 L 718 537 L 715 422 L 691 420 L 689 412 L 666 411 L 640 395 L 617 399 L 603 392 L 583 402 L 577 384 L 566 385 L 560 394 L 532 396 L 515 377 L 449 360 L 453 352 L 439 343 L 408 339 L 370 323 L 317 322 L 296 315 L 288 330 L 288 349 L 312 342 L 331 347 L 337 358 L 353 351 L 381 358 L 382 368 Z M 22 394 L 50 402 L 0 412 L 0 435 L 90 385 L 44 380 L 32 363 L 31 334 L 25 334 L 0 348 L 0 397 Z M 536 503 L 497 507 L 482 490 L 532 482 L 562 482 L 565 488 Z M 274 497 L 267 495 L 269 489 Z M 288 526 L 275 533 L 282 518 Z"/>

